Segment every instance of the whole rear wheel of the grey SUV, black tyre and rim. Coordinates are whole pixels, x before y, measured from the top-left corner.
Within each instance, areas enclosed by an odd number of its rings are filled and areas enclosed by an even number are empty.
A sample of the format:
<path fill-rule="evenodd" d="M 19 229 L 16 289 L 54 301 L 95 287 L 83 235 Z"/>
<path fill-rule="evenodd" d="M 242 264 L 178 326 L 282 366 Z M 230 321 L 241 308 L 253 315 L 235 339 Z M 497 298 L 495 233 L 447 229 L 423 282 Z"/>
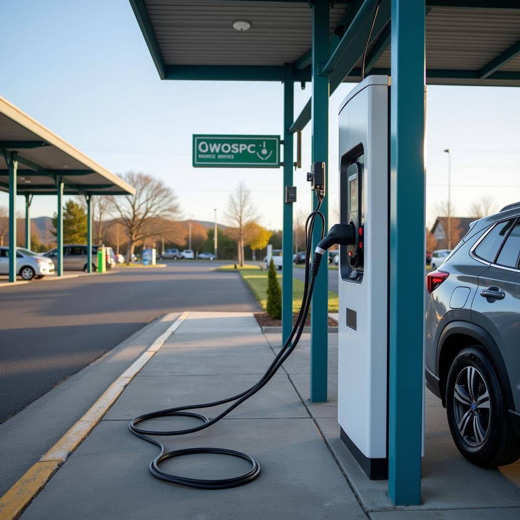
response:
<path fill-rule="evenodd" d="M 497 467 L 520 457 L 502 384 L 480 346 L 465 348 L 453 360 L 446 405 L 451 435 L 466 459 Z"/>

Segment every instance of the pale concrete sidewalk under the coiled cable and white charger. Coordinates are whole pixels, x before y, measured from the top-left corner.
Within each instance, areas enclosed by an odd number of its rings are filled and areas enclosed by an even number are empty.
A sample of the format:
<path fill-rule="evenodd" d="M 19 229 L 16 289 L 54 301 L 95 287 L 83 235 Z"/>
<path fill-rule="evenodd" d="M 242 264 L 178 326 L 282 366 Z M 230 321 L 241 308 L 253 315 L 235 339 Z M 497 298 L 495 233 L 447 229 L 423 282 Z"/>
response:
<path fill-rule="evenodd" d="M 424 505 L 394 508 L 385 493 L 387 483 L 368 480 L 339 439 L 337 334 L 329 335 L 328 403 L 308 402 L 309 336 L 305 335 L 283 369 L 225 419 L 196 434 L 161 438 L 167 450 L 214 446 L 249 453 L 262 467 L 256 480 L 207 491 L 152 477 L 147 466 L 158 449 L 132 435 L 128 421 L 148 411 L 242 391 L 257 381 L 279 345 L 280 335 L 264 336 L 251 313 L 191 313 L 22 518 L 509 520 L 520 516 L 520 465 L 493 471 L 467 463 L 451 442 L 444 410 L 431 395 L 426 408 Z M 214 417 L 218 410 L 209 409 L 207 415 Z M 165 430 L 196 424 L 189 421 L 161 419 L 149 424 Z M 212 455 L 172 459 L 163 467 L 176 474 L 217 478 L 242 473 L 247 465 Z"/>

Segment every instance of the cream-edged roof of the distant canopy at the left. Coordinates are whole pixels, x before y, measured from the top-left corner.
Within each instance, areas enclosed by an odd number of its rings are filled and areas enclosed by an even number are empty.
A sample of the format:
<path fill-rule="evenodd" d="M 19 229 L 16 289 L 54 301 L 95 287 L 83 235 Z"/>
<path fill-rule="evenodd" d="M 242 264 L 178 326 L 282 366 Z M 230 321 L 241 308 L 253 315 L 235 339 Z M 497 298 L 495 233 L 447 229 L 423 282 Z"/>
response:
<path fill-rule="evenodd" d="M 4 151 L 18 152 L 18 194 L 133 194 L 135 189 L 0 97 L 0 190 L 9 191 Z"/>

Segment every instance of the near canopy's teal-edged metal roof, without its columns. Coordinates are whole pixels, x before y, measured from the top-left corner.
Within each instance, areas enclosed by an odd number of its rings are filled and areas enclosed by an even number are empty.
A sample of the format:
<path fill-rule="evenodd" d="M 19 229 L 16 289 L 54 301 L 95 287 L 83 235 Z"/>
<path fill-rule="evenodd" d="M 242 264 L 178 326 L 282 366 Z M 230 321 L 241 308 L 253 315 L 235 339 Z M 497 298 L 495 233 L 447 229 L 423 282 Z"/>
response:
<path fill-rule="evenodd" d="M 306 0 L 130 2 L 162 79 L 283 81 L 291 74 L 296 81 L 310 80 L 311 11 Z M 333 3 L 331 50 L 362 4 Z M 518 0 L 426 0 L 426 12 L 427 83 L 520 86 Z M 388 0 L 378 16 L 386 19 L 376 24 L 367 70 L 387 74 Z M 232 22 L 241 19 L 250 21 L 251 29 L 233 29 Z M 344 81 L 360 80 L 360 57 Z"/>

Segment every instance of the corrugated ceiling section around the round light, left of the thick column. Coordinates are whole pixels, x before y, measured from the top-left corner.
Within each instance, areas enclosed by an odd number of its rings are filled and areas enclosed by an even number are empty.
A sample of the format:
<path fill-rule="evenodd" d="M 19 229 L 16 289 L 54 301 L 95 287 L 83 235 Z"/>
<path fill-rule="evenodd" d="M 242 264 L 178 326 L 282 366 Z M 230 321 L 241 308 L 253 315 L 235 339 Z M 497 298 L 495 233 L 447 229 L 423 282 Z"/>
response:
<path fill-rule="evenodd" d="M 233 0 L 146 0 L 167 65 L 283 65 L 310 47 L 311 11 L 307 2 Z M 345 5 L 331 9 L 331 33 Z M 233 29 L 248 20 L 251 29 Z"/>

